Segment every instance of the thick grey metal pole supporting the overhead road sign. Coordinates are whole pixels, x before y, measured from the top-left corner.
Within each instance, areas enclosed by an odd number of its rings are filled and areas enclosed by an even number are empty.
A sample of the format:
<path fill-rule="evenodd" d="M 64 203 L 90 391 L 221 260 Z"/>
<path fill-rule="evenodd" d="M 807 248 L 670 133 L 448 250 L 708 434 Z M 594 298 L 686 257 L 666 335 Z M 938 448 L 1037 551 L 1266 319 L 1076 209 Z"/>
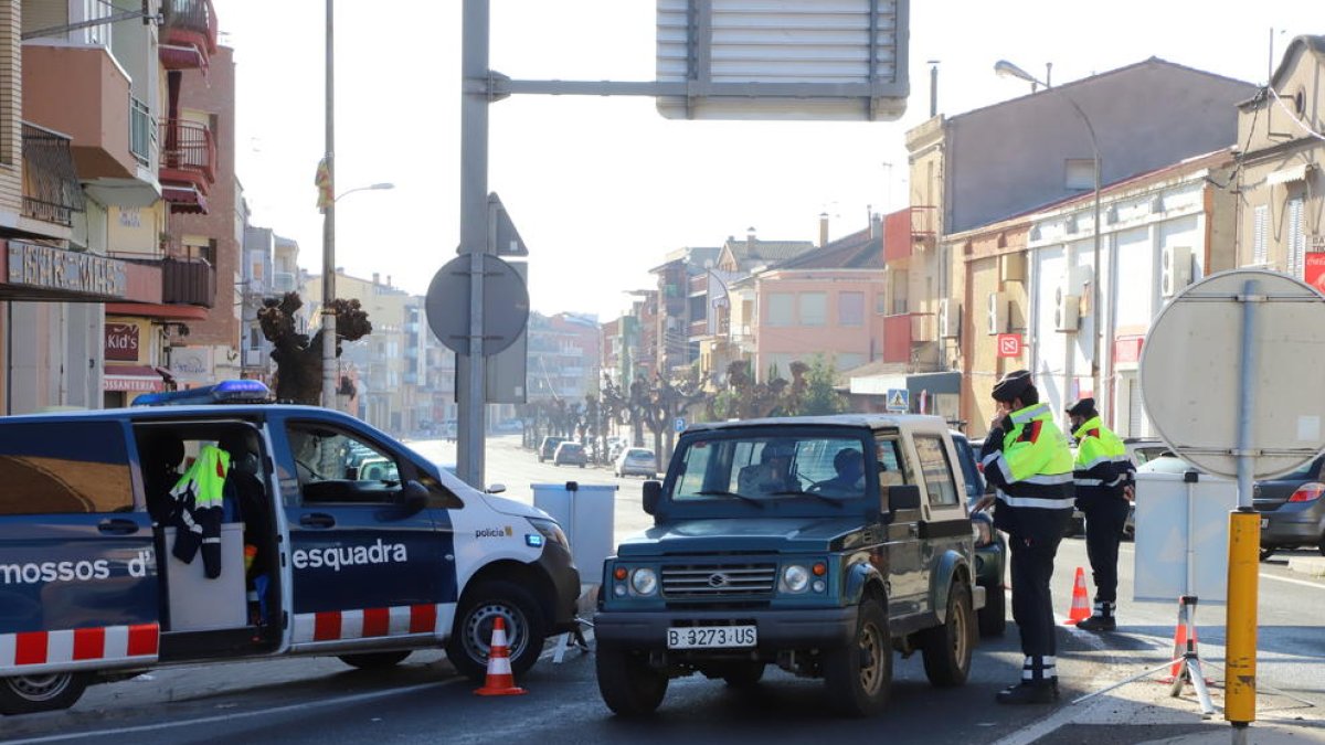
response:
<path fill-rule="evenodd" d="M 460 86 L 460 253 L 469 255 L 469 354 L 456 355 L 457 475 L 484 484 L 484 265 L 488 251 L 489 0 L 464 0 Z"/>

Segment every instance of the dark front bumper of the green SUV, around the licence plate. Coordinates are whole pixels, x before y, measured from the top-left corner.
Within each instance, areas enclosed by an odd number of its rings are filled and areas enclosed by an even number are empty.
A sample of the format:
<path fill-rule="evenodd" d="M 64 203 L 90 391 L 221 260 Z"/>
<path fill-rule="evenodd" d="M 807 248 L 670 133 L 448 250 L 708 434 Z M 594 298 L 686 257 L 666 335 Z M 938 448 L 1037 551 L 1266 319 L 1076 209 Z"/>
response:
<path fill-rule="evenodd" d="M 856 635 L 857 606 L 844 608 L 795 608 L 750 611 L 603 611 L 594 616 L 594 638 L 607 647 L 637 651 L 666 648 L 673 626 L 739 626 L 753 623 L 758 650 L 806 650 L 845 647 Z M 688 650 L 731 652 L 741 648 Z"/>

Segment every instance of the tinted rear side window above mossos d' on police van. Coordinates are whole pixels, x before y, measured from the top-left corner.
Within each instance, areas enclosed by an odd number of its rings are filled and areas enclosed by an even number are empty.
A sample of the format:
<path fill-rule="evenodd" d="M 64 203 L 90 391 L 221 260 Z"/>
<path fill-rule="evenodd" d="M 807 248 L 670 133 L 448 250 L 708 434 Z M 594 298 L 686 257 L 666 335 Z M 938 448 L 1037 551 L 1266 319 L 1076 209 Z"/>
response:
<path fill-rule="evenodd" d="M 118 423 L 5 424 L 0 440 L 0 514 L 132 512 Z"/>

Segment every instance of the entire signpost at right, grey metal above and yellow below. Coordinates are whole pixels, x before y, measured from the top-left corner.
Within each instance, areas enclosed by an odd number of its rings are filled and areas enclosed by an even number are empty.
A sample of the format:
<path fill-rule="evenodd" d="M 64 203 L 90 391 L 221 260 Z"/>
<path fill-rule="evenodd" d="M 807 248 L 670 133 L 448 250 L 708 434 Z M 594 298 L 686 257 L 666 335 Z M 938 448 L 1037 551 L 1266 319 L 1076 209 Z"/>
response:
<path fill-rule="evenodd" d="M 1265 300 L 1259 294 L 1260 282 L 1247 280 L 1242 302 L 1242 361 L 1238 402 L 1238 510 L 1228 516 L 1228 672 L 1224 687 L 1224 718 L 1235 728 L 1256 720 L 1256 597 L 1260 553 L 1260 517 L 1252 500 L 1252 475 L 1256 455 L 1252 432 L 1256 408 L 1257 306 Z"/>

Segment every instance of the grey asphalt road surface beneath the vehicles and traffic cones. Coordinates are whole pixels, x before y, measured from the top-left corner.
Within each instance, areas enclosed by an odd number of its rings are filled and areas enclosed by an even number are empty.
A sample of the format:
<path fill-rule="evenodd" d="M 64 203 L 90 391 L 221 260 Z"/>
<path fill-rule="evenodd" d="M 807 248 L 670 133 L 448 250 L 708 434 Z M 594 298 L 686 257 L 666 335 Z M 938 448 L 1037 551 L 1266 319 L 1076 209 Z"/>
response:
<path fill-rule="evenodd" d="M 453 460 L 445 443 L 417 443 L 440 461 Z M 504 483 L 506 496 L 533 501 L 531 484 L 578 480 L 619 484 L 616 536 L 649 525 L 640 510 L 640 479 L 613 479 L 602 469 L 539 464 L 518 437 L 489 443 L 488 481 Z M 98 685 L 73 709 L 0 718 L 0 740 L 19 742 L 713 742 L 759 740 L 803 742 L 824 738 L 878 738 L 894 742 L 1140 742 L 1187 732 L 1203 724 L 1192 701 L 1177 701 L 1173 722 L 1129 718 L 1125 704 L 1153 696 L 1150 680 L 1128 684 L 1101 699 L 1080 724 L 1071 700 L 1169 659 L 1177 606 L 1133 603 L 1134 547 L 1124 545 L 1124 598 L 1117 634 L 1090 635 L 1060 628 L 1059 669 L 1064 699 L 1053 707 L 1006 708 L 995 692 L 1016 680 L 1020 652 L 1015 626 L 977 650 L 973 677 L 957 689 L 935 689 L 918 656 L 898 660 L 889 711 L 877 720 L 843 721 L 825 713 L 818 680 L 770 669 L 757 689 L 727 691 L 721 681 L 676 680 L 656 717 L 619 721 L 602 704 L 592 656 L 570 651 L 562 664 L 539 663 L 518 683 L 529 693 L 482 699 L 453 675 L 441 652 L 415 652 L 391 671 L 354 671 L 335 659 L 284 659 L 163 668 L 138 679 Z M 1285 559 L 1261 565 L 1259 681 L 1325 707 L 1325 582 L 1295 574 Z M 1071 606 L 1077 566 L 1088 567 L 1081 540 L 1064 541 L 1055 575 L 1055 607 Z M 1089 570 L 1086 570 L 1089 577 Z M 1200 654 L 1223 661 L 1223 607 L 1198 611 Z M 549 650 L 545 656 L 550 656 Z M 1220 671 L 1212 693 L 1222 700 Z M 1189 692 L 1190 693 L 1190 692 Z M 1187 696 L 1190 699 L 1190 696 Z M 1183 711 L 1186 705 L 1187 711 Z M 1260 697 L 1261 718 L 1301 716 L 1302 705 L 1275 695 Z M 1313 716 L 1320 716 L 1318 713 Z M 1089 717 L 1088 717 L 1089 718 Z M 1094 721 L 1098 720 L 1098 721 Z M 1077 721 L 1077 722 L 1075 722 Z M 1093 724 L 1092 724 L 1093 722 Z M 1094 729 L 1090 729 L 1094 728 Z M 1040 740 L 1043 738 L 1043 740 Z"/>

